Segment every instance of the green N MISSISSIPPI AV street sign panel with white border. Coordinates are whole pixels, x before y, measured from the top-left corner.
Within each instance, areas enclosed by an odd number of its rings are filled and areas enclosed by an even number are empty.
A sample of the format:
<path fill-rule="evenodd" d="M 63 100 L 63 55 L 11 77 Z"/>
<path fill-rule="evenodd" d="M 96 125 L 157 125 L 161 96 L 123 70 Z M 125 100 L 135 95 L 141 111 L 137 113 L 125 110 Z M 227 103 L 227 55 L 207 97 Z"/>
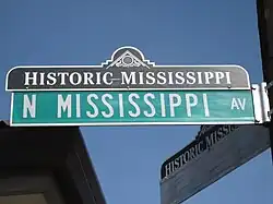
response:
<path fill-rule="evenodd" d="M 254 123 L 251 91 L 15 92 L 12 125 Z"/>

